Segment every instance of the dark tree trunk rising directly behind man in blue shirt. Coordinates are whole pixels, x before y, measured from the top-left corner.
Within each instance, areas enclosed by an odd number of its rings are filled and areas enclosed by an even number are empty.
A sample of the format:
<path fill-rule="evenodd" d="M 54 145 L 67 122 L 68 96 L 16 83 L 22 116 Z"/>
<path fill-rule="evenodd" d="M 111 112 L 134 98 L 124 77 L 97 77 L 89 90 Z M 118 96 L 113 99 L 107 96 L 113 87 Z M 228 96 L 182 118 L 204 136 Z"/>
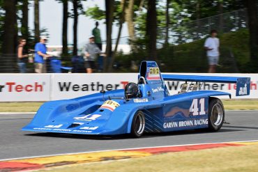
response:
<path fill-rule="evenodd" d="M 34 39 L 40 40 L 40 8 L 39 0 L 34 0 Z"/>

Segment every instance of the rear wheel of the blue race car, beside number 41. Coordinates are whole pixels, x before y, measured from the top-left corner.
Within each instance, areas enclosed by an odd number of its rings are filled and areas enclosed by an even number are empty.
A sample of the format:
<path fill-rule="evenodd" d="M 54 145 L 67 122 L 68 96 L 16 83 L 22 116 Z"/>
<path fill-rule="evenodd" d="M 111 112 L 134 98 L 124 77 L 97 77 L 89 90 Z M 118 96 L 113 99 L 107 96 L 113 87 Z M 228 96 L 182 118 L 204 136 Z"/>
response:
<path fill-rule="evenodd" d="M 218 98 L 211 98 L 208 102 L 208 130 L 217 132 L 224 123 L 224 106 Z"/>

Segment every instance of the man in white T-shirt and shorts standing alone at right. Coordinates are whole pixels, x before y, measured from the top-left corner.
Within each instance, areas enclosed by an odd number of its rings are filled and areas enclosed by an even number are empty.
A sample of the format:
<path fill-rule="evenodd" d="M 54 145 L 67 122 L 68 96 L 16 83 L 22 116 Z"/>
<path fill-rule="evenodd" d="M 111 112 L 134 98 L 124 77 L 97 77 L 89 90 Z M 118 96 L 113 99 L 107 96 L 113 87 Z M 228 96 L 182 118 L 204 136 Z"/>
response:
<path fill-rule="evenodd" d="M 208 72 L 209 73 L 215 73 L 216 72 L 216 66 L 218 65 L 218 60 L 220 56 L 220 40 L 216 38 L 218 35 L 218 32 L 216 30 L 211 31 L 211 37 L 207 38 L 204 43 L 204 49 L 207 51 L 207 57 L 208 57 Z"/>

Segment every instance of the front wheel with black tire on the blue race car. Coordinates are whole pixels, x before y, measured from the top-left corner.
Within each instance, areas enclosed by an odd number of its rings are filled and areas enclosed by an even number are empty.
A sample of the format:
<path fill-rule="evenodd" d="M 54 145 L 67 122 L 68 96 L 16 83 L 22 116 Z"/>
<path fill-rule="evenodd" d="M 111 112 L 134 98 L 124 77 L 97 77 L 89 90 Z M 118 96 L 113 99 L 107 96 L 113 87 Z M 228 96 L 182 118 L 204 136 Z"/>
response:
<path fill-rule="evenodd" d="M 142 111 L 137 111 L 132 119 L 131 134 L 134 137 L 140 137 L 144 134 L 145 116 Z"/>

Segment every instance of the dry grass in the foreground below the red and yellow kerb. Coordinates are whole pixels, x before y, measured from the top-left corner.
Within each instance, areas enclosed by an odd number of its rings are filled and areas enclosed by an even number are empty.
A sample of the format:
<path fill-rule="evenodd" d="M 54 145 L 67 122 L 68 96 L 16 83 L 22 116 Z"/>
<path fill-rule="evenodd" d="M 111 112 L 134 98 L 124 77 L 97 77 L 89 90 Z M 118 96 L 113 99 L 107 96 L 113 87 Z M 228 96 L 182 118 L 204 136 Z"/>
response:
<path fill-rule="evenodd" d="M 238 172 L 258 171 L 258 145 L 212 148 L 180 153 L 165 153 L 150 157 L 123 159 L 118 161 L 98 162 L 61 166 L 47 171 L 112 171 L 112 172 Z M 46 171 L 46 170 L 42 170 Z"/>

